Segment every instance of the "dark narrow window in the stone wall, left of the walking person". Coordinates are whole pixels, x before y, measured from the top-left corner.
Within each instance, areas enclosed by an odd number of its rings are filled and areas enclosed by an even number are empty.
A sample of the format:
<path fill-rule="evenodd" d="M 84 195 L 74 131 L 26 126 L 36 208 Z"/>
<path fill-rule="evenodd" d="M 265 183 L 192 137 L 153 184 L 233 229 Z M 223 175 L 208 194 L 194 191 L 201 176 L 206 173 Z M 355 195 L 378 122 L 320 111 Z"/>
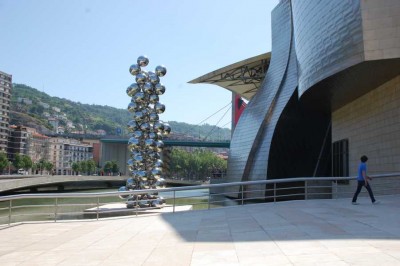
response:
<path fill-rule="evenodd" d="M 332 144 L 332 176 L 349 176 L 349 140 L 342 139 Z M 339 181 L 348 184 L 348 180 Z"/>

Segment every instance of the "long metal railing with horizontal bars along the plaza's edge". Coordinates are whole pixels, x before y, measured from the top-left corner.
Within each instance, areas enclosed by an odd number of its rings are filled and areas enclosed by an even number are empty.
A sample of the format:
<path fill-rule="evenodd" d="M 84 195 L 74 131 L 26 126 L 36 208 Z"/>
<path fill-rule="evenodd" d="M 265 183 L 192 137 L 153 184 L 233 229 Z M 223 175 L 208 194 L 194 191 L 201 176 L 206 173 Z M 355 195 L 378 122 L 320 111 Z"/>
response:
<path fill-rule="evenodd" d="M 376 196 L 400 193 L 400 173 L 372 176 Z M 356 188 L 354 177 L 302 177 L 263 181 L 204 184 L 129 192 L 38 193 L 0 197 L 0 228 L 19 223 L 99 220 L 116 216 L 141 216 L 221 208 L 233 205 L 285 200 L 350 198 Z M 158 194 L 165 199 L 159 207 L 146 207 L 145 200 L 127 208 L 123 196 Z M 360 195 L 365 196 L 365 191 Z M 143 203 L 143 204 L 141 204 Z"/>

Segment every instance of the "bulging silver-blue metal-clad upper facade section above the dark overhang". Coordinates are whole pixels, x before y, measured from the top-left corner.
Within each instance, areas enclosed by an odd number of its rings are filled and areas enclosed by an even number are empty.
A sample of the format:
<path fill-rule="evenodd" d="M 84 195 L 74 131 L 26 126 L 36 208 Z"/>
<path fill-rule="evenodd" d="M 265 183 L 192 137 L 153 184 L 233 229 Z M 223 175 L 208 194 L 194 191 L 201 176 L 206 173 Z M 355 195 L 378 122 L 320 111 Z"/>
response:
<path fill-rule="evenodd" d="M 300 96 L 364 60 L 359 1 L 292 1 Z"/>

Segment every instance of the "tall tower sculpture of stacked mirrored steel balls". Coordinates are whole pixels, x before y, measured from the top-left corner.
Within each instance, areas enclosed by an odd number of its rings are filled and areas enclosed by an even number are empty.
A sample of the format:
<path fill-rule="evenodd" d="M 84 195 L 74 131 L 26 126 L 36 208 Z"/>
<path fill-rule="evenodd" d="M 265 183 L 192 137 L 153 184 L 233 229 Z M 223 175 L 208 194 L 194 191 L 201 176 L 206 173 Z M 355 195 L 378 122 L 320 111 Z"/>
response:
<path fill-rule="evenodd" d="M 146 56 L 139 56 L 137 63 L 129 68 L 136 81 L 126 89 L 127 95 L 131 97 L 128 111 L 132 114 L 132 120 L 127 125 L 131 136 L 128 140 L 130 158 L 127 160 L 127 168 L 131 177 L 120 188 L 121 192 L 159 188 L 165 184 L 162 178 L 164 164 L 160 159 L 164 148 L 162 139 L 169 134 L 171 128 L 160 121 L 159 115 L 164 113 L 165 105 L 160 103 L 159 97 L 165 93 L 160 78 L 166 75 L 167 69 L 159 65 L 155 72 L 146 72 L 144 67 L 148 64 Z M 165 203 L 157 193 L 135 192 L 121 195 L 121 198 L 126 199 L 128 208 L 158 207 Z"/>

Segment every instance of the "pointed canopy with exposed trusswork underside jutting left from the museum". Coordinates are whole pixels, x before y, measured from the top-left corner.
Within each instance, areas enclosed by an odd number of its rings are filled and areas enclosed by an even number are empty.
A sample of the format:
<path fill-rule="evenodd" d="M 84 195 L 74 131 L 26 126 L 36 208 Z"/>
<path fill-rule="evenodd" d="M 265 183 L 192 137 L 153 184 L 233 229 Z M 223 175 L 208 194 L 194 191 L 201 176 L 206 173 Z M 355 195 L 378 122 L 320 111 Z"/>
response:
<path fill-rule="evenodd" d="M 254 56 L 205 74 L 189 83 L 208 83 L 221 86 L 250 100 L 264 80 L 271 53 Z"/>

